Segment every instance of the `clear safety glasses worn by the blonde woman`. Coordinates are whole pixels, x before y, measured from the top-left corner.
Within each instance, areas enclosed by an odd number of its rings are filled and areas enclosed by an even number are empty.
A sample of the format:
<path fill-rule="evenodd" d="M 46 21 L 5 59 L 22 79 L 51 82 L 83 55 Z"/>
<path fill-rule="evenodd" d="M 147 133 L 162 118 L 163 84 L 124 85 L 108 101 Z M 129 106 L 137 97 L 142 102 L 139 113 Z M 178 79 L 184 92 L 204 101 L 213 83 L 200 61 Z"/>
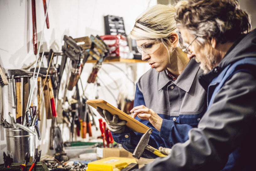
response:
<path fill-rule="evenodd" d="M 141 47 L 137 46 L 137 49 L 141 54 L 142 52 L 145 52 L 146 54 L 153 54 L 160 48 L 160 45 L 160 41 L 153 40 L 145 44 L 142 44 Z"/>

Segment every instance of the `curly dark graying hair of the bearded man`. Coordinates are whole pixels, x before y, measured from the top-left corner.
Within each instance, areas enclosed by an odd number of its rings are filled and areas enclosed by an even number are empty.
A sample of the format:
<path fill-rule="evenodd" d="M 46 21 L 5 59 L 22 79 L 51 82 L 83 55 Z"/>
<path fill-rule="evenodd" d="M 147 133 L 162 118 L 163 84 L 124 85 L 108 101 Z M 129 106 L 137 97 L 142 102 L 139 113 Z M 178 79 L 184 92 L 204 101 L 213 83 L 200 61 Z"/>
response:
<path fill-rule="evenodd" d="M 186 28 L 204 44 L 211 38 L 217 43 L 233 42 L 251 29 L 250 16 L 237 0 L 189 0 L 176 11 L 178 28 Z"/>

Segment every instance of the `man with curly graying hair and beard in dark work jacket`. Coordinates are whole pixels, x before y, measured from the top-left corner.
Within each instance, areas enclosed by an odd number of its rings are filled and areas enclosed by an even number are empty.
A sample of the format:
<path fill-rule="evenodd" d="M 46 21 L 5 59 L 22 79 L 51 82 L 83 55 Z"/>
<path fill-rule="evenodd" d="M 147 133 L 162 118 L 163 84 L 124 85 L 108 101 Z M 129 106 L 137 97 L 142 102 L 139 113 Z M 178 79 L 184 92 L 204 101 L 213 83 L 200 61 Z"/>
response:
<path fill-rule="evenodd" d="M 184 51 L 205 71 L 208 108 L 185 143 L 139 170 L 256 170 L 256 30 L 248 13 L 237 0 L 189 0 L 175 20 Z"/>

